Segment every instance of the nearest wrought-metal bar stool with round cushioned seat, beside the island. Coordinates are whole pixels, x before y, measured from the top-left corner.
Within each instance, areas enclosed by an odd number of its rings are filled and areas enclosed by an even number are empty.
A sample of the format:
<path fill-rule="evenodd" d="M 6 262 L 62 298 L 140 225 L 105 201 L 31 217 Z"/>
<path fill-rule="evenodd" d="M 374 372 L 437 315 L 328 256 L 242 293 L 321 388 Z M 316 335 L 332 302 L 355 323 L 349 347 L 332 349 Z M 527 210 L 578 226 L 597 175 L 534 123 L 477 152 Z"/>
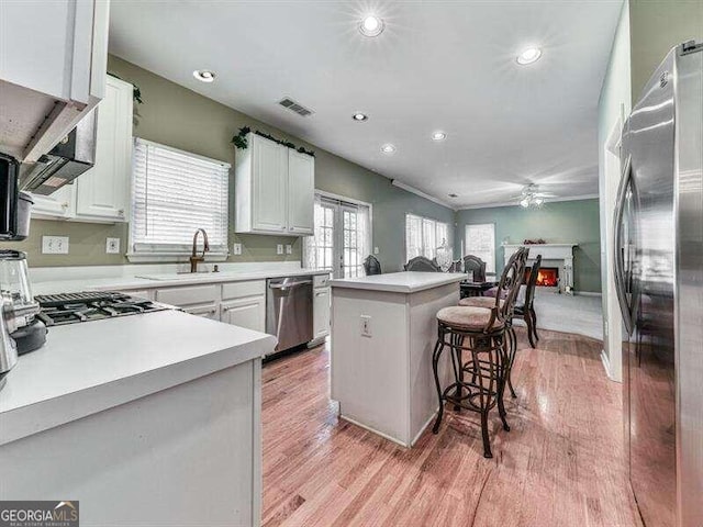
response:
<path fill-rule="evenodd" d="M 437 313 L 437 344 L 432 357 L 435 386 L 439 399 L 439 413 L 432 429 L 439 431 L 444 416 L 444 405 L 449 402 L 456 411 L 460 408 L 477 412 L 481 416 L 483 457 L 492 458 L 488 433 L 488 416 L 498 406 L 503 429 L 510 431 L 505 419 L 503 392 L 510 367 L 509 346 L 505 341 L 507 302 L 514 302 L 520 289 L 520 272 L 523 271 L 518 257 L 511 258 L 501 276 L 501 290 L 509 291 L 501 305 L 501 299 L 490 299 L 493 306 L 450 306 Z M 449 348 L 454 382 L 443 388 L 439 382 L 439 359 L 445 348 Z M 468 355 L 465 361 L 464 356 Z M 469 380 L 470 379 L 470 380 Z"/>

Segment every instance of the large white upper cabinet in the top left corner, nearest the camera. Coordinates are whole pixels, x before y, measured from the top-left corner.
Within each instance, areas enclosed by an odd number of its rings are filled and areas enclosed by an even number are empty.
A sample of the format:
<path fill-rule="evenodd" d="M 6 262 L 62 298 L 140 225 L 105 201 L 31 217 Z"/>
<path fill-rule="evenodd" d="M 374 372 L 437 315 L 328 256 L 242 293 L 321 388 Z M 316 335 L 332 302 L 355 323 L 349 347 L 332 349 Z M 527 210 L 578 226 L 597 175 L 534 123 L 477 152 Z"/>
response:
<path fill-rule="evenodd" d="M 0 2 L 0 152 L 33 162 L 104 97 L 108 0 Z"/>

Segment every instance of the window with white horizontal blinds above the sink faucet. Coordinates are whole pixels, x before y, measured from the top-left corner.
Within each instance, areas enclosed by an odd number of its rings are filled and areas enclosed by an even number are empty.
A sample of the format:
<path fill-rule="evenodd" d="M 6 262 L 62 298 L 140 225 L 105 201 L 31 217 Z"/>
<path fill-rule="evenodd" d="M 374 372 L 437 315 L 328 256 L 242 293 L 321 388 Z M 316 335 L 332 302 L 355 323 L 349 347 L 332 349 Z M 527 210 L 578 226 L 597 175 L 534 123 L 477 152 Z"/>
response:
<path fill-rule="evenodd" d="M 136 138 L 130 255 L 189 255 L 204 228 L 209 255 L 226 257 L 228 171 L 226 162 Z"/>

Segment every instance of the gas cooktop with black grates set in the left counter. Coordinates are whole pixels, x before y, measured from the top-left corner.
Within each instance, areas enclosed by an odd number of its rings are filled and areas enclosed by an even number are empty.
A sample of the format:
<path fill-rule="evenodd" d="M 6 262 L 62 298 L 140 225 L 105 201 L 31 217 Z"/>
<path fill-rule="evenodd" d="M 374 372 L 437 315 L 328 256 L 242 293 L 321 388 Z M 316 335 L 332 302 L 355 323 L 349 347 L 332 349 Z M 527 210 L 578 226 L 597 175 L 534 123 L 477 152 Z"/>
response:
<path fill-rule="evenodd" d="M 99 321 L 174 309 L 170 305 L 118 292 L 40 294 L 42 311 L 36 315 L 47 326 Z"/>

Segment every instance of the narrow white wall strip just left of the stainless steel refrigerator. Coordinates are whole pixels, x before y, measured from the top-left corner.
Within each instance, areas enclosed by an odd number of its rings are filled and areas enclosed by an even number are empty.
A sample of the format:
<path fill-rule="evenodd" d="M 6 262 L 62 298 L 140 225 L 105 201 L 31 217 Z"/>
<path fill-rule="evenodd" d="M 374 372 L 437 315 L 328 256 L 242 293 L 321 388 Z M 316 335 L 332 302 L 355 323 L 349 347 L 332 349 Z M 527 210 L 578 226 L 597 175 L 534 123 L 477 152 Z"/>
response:
<path fill-rule="evenodd" d="M 603 291 L 603 363 L 607 374 L 622 381 L 622 322 L 613 280 L 613 214 L 620 164 L 615 149 L 620 130 L 632 110 L 629 1 L 623 4 L 610 63 L 599 100 L 599 188 L 601 208 L 601 280 Z M 609 145 L 610 141 L 610 145 Z M 615 152 L 617 152 L 615 149 Z"/>

